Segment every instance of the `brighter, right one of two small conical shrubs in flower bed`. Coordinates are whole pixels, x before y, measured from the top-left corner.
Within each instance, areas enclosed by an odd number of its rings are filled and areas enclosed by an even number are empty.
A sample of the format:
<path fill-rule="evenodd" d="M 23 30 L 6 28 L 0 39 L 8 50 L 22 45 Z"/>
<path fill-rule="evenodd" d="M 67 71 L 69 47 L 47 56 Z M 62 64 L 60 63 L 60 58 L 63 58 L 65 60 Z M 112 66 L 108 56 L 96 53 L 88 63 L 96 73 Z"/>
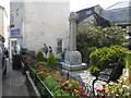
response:
<path fill-rule="evenodd" d="M 49 54 L 48 61 L 47 61 L 47 65 L 49 66 L 58 66 L 58 61 L 56 60 L 53 53 Z"/>

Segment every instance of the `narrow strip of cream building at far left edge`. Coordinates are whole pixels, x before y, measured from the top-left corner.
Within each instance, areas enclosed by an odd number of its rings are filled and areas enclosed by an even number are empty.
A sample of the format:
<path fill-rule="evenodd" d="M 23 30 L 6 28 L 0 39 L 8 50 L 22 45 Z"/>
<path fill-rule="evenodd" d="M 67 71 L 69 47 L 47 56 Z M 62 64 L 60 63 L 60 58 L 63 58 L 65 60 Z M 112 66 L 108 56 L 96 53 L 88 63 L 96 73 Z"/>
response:
<path fill-rule="evenodd" d="M 8 14 L 3 7 L 0 5 L 0 35 L 4 37 L 4 45 L 8 47 L 8 38 L 9 38 L 9 32 L 8 32 Z"/>

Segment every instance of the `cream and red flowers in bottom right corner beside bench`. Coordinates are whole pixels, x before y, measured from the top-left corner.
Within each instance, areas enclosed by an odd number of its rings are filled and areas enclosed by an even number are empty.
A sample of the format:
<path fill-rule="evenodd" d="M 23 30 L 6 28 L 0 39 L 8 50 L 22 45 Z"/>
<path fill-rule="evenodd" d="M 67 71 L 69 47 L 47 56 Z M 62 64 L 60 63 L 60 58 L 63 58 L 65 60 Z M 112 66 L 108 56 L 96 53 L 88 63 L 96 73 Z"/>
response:
<path fill-rule="evenodd" d="M 103 88 L 95 89 L 97 96 L 111 96 L 111 98 L 117 97 L 129 97 L 131 96 L 130 88 L 126 83 L 127 77 L 120 76 L 118 83 L 110 82 L 107 85 L 103 85 Z"/>

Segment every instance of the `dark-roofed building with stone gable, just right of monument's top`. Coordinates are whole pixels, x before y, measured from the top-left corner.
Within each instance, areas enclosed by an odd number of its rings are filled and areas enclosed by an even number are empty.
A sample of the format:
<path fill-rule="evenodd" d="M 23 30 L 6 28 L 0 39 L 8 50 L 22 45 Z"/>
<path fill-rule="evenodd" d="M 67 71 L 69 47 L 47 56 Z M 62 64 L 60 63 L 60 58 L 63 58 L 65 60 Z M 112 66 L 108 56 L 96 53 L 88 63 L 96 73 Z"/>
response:
<path fill-rule="evenodd" d="M 99 4 L 78 11 L 78 29 L 81 30 L 91 26 L 110 26 L 109 21 L 100 16 L 103 11 L 104 9 Z"/>

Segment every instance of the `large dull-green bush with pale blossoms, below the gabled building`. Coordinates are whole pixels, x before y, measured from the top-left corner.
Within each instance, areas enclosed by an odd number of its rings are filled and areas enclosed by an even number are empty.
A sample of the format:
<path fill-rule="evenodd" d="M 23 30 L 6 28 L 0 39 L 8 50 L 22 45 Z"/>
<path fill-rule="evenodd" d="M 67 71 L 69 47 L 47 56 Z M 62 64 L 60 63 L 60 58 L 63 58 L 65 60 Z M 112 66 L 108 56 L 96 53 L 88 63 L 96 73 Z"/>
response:
<path fill-rule="evenodd" d="M 84 47 L 110 47 L 111 45 L 122 45 L 126 41 L 123 37 L 126 30 L 112 27 L 90 27 L 78 30 L 76 47 L 81 51 Z"/>

